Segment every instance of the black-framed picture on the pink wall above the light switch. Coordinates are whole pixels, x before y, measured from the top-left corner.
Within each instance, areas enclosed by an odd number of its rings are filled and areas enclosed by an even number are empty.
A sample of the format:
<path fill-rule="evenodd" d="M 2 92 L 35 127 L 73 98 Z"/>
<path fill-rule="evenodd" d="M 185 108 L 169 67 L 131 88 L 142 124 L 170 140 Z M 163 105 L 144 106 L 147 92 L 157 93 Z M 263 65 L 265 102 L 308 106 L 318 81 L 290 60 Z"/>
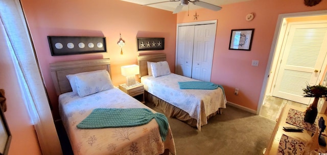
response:
<path fill-rule="evenodd" d="M 234 29 L 230 32 L 229 50 L 251 51 L 254 29 Z"/>

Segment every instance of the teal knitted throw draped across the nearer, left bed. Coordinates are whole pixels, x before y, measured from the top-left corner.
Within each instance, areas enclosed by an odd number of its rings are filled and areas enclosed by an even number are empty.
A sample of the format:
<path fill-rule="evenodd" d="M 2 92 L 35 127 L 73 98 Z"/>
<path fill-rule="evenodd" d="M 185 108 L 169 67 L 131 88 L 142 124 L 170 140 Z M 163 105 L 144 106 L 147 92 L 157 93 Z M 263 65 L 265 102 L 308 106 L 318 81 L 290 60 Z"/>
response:
<path fill-rule="evenodd" d="M 149 123 L 155 119 L 159 125 L 161 140 L 165 141 L 168 133 L 168 119 L 164 114 L 155 113 L 146 108 L 96 108 L 77 128 L 131 127 Z"/>

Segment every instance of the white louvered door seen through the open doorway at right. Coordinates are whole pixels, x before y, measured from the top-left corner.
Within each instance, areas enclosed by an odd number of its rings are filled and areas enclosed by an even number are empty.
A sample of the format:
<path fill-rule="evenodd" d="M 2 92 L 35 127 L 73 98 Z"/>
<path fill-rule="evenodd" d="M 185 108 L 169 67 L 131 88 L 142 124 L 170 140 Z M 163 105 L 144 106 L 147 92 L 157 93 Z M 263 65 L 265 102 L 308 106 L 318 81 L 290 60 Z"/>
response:
<path fill-rule="evenodd" d="M 327 24 L 290 24 L 288 30 L 273 96 L 309 104 L 311 98 L 303 97 L 302 89 L 319 83 L 327 52 Z"/>

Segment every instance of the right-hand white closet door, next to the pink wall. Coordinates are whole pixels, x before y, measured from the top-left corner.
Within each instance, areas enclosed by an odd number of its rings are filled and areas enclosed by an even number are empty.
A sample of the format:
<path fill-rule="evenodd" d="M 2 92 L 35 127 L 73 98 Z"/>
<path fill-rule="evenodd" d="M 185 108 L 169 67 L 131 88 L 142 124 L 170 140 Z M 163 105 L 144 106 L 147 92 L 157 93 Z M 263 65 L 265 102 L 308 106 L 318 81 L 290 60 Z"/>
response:
<path fill-rule="evenodd" d="M 194 30 L 192 78 L 201 81 L 211 80 L 216 25 L 196 25 Z"/>

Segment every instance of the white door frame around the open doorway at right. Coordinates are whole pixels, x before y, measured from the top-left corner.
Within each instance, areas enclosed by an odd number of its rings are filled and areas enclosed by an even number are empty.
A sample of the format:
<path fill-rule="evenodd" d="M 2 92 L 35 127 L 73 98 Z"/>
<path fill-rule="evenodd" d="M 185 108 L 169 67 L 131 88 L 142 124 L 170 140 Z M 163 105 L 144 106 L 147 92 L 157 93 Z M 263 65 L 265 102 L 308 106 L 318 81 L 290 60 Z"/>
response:
<path fill-rule="evenodd" d="M 285 13 L 285 14 L 279 14 L 278 15 L 273 41 L 271 43 L 269 59 L 268 59 L 268 62 L 267 62 L 265 77 L 264 77 L 262 88 L 261 88 L 259 103 L 258 103 L 258 107 L 256 108 L 257 109 L 256 110 L 256 115 L 260 114 L 262 104 L 263 104 L 263 100 L 264 100 L 264 97 L 266 95 L 266 89 L 268 87 L 271 87 L 271 83 L 268 83 L 268 80 L 270 80 L 269 75 L 270 75 L 271 69 L 275 67 L 275 65 L 273 66 L 274 56 L 275 56 L 275 54 L 279 55 L 279 52 L 276 52 L 276 51 L 278 49 L 280 49 L 281 46 L 282 46 L 282 42 L 278 41 L 278 39 L 279 38 L 284 38 L 284 36 L 285 36 L 287 23 L 288 23 L 286 18 L 306 17 L 306 16 L 315 16 L 315 15 L 327 15 L 327 10 L 297 12 L 297 13 Z M 270 75 L 270 77 L 274 77 L 274 75 Z"/>

